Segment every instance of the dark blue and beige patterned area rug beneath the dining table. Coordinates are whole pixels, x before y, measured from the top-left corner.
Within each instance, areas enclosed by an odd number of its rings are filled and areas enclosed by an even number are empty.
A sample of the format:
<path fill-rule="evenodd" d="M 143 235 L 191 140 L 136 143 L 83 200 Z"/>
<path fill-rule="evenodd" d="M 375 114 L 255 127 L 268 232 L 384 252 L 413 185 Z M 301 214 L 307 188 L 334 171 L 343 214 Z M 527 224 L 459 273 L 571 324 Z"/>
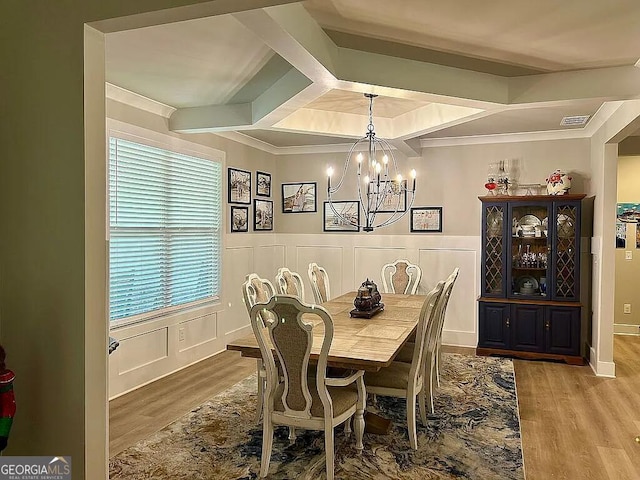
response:
<path fill-rule="evenodd" d="M 335 477 L 356 479 L 523 480 L 513 364 L 509 359 L 443 355 L 435 414 L 418 419 L 418 450 L 407 437 L 405 401 L 378 397 L 392 420 L 388 435 L 335 431 Z M 260 472 L 262 428 L 255 422 L 256 379 L 250 376 L 109 462 L 111 479 L 254 479 Z M 371 408 L 368 406 L 367 408 Z M 299 431 L 290 445 L 277 427 L 269 478 L 326 478 L 324 434 Z"/>

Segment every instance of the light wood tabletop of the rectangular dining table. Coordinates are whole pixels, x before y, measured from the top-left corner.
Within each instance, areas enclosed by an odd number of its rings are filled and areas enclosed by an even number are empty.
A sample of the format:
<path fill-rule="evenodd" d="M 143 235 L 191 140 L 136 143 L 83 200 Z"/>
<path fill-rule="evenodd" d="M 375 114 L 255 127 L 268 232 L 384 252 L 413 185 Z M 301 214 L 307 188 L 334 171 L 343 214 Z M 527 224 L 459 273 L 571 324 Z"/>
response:
<path fill-rule="evenodd" d="M 356 292 L 349 292 L 322 304 L 333 318 L 333 341 L 327 364 L 330 367 L 375 372 L 387 367 L 415 330 L 425 295 L 382 294 L 384 309 L 372 318 L 352 318 Z M 311 361 L 318 359 L 324 326 L 314 315 L 303 317 L 318 328 L 313 329 Z M 234 340 L 227 350 L 237 350 L 243 357 L 261 358 L 260 347 L 251 333 Z"/>

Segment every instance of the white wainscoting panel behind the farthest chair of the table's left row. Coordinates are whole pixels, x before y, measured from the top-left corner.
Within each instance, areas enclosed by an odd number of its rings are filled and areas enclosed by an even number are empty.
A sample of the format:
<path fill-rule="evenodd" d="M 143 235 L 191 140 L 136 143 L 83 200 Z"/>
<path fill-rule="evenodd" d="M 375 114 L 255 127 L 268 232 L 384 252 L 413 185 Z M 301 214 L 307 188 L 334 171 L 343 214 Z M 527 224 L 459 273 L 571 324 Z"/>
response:
<path fill-rule="evenodd" d="M 304 281 L 305 299 L 309 303 L 313 303 L 313 290 L 309 281 L 309 264 L 317 263 L 327 271 L 329 275 L 329 287 L 331 296 L 337 297 L 343 292 L 344 271 L 344 248 L 331 245 L 298 245 L 296 247 L 296 264 L 298 273 Z M 351 288 L 350 288 L 351 289 Z M 348 291 L 348 290 L 347 290 Z"/>

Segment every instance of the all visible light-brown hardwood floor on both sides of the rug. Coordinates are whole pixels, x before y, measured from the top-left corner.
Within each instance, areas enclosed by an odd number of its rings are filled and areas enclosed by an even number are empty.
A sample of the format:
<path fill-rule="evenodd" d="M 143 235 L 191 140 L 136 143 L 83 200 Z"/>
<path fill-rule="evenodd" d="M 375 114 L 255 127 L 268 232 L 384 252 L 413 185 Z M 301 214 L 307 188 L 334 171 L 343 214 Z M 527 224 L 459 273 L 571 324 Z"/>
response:
<path fill-rule="evenodd" d="M 469 353 L 471 349 L 445 348 Z M 514 360 L 527 480 L 640 478 L 640 337 L 616 336 L 617 378 L 588 366 Z M 111 456 L 253 373 L 223 352 L 110 402 Z"/>

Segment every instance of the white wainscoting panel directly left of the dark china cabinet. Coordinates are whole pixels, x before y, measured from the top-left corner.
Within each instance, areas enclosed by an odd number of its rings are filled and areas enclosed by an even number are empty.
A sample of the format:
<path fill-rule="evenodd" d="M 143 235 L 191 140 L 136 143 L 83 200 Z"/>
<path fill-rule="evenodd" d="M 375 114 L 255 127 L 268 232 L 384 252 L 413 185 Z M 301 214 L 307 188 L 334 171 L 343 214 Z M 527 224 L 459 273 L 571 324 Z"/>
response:
<path fill-rule="evenodd" d="M 458 280 L 451 292 L 444 323 L 443 343 L 476 346 L 477 344 L 477 262 L 475 250 L 422 249 L 422 293 L 445 280 L 454 268 L 460 268 Z"/>

